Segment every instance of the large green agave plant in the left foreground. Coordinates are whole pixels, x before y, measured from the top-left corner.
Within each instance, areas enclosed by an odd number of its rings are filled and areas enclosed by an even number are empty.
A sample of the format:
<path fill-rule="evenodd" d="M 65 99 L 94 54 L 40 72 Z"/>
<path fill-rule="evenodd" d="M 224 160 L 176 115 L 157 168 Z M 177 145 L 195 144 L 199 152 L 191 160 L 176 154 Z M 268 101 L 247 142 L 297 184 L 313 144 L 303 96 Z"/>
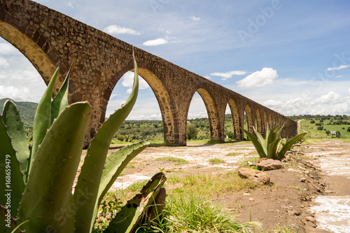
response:
<path fill-rule="evenodd" d="M 104 195 L 128 162 L 148 145 L 135 143 L 107 156 L 113 134 L 137 99 L 134 59 L 132 94 L 94 136 L 73 187 L 92 109 L 86 102 L 68 105 L 70 71 L 51 101 L 58 73 L 59 67 L 38 104 L 31 150 L 17 107 L 12 101 L 4 104 L 0 117 L 0 232 L 92 232 Z M 165 180 L 162 173 L 153 176 L 104 232 L 132 232 Z"/>

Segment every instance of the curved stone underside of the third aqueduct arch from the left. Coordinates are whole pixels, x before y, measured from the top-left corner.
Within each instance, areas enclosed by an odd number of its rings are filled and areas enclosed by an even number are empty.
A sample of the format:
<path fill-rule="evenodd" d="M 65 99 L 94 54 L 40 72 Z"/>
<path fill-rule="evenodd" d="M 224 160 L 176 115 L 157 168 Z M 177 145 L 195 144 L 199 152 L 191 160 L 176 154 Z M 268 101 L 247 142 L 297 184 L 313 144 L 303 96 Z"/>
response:
<path fill-rule="evenodd" d="M 216 107 L 213 97 L 211 97 L 211 94 L 209 94 L 209 92 L 204 88 L 198 89 L 197 92 L 198 94 L 200 94 L 200 97 L 202 97 L 205 108 L 207 109 L 211 140 L 213 141 L 225 140 L 223 138 L 223 135 L 221 135 L 219 118 L 218 118 L 218 109 Z M 193 92 L 193 94 L 191 95 L 192 97 L 191 100 L 193 99 L 194 94 L 195 92 Z M 190 109 L 190 105 L 188 105 L 186 110 L 186 118 L 187 118 L 189 109 Z M 186 127 L 187 127 L 187 124 L 186 124 Z"/>

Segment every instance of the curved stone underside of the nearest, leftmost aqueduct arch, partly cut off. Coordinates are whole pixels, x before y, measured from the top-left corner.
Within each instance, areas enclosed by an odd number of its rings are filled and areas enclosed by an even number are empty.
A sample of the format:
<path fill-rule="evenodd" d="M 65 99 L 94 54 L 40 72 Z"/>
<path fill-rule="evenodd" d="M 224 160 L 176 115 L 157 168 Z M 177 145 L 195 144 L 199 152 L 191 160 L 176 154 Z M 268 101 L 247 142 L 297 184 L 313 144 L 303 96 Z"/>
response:
<path fill-rule="evenodd" d="M 0 36 L 27 57 L 29 62 L 40 73 L 45 84 L 48 85 L 52 74 L 57 69 L 59 59 L 55 55 L 55 52 L 48 50 L 45 39 L 38 31 L 32 29 L 30 25 L 23 27 L 27 27 L 25 33 L 7 22 L 0 21 Z M 59 90 L 64 77 L 62 74 L 66 71 L 66 67 L 62 64 L 58 77 L 59 82 L 55 84 L 54 94 Z"/>

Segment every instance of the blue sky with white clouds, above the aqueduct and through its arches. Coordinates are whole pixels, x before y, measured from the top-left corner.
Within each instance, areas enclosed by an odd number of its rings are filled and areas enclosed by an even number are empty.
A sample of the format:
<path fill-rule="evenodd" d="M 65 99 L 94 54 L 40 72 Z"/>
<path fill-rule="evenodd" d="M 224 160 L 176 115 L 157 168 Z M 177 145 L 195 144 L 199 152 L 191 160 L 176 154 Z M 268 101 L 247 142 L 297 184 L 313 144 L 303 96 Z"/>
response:
<path fill-rule="evenodd" d="M 350 1 L 38 1 L 284 115 L 350 115 Z M 130 78 L 108 106 L 127 99 Z M 129 119 L 158 119 L 147 83 Z M 0 98 L 38 101 L 43 80 L 0 40 Z M 229 111 L 228 111 L 229 113 Z M 207 117 L 195 94 L 189 118 Z"/>

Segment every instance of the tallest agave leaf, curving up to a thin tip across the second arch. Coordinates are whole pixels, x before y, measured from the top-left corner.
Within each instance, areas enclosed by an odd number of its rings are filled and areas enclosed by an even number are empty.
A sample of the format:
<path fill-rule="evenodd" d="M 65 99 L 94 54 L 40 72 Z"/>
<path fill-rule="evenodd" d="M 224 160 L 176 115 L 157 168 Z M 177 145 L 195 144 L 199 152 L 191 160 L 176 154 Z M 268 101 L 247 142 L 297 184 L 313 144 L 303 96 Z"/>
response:
<path fill-rule="evenodd" d="M 120 125 L 122 125 L 125 118 L 127 118 L 130 111 L 132 111 L 139 92 L 139 75 L 135 59 L 134 67 L 134 87 L 129 99 L 104 122 L 104 125 L 102 125 L 94 136 L 87 150 L 87 155 L 76 184 L 76 190 L 85 190 L 85 192 L 92 193 L 93 196 L 87 199 L 84 204 L 76 206 L 76 232 L 84 233 L 91 232 L 92 230 L 95 219 L 96 200 L 99 198 L 97 197 L 97 190 L 99 190 L 99 183 L 102 178 L 109 145 L 111 144 L 113 135 Z M 77 199 L 79 195 L 79 192 L 74 192 L 74 199 Z"/>

